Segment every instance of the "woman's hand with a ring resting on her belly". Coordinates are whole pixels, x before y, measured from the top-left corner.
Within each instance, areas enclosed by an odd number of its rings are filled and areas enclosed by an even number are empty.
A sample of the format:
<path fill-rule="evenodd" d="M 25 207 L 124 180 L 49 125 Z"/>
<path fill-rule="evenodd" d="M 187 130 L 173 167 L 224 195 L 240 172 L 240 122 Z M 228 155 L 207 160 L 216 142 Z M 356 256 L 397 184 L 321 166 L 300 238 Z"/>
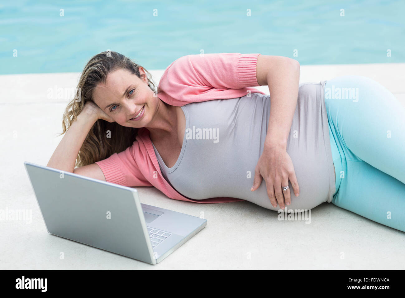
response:
<path fill-rule="evenodd" d="M 299 195 L 299 187 L 295 176 L 294 165 L 290 155 L 282 146 L 268 145 L 264 146 L 262 155 L 255 168 L 254 182 L 251 191 L 258 189 L 262 183 L 262 179 L 266 183 L 267 195 L 274 207 L 277 207 L 277 202 L 281 209 L 286 205 L 291 204 L 290 191 L 283 191 L 281 187 L 288 186 L 288 180 L 291 181 L 295 195 Z M 277 201 L 276 201 L 277 199 Z M 285 202 L 284 202 L 285 200 Z"/>

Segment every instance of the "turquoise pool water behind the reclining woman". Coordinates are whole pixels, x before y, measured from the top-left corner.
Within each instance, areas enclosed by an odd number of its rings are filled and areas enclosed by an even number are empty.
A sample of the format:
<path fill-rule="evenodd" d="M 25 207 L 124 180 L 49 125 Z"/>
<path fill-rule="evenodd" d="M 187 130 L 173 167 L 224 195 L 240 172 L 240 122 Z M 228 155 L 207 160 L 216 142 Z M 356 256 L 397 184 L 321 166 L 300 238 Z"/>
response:
<path fill-rule="evenodd" d="M 404 19 L 403 0 L 10 1 L 0 4 L 0 74 L 79 72 L 107 49 L 146 69 L 202 50 L 301 65 L 405 62 Z"/>

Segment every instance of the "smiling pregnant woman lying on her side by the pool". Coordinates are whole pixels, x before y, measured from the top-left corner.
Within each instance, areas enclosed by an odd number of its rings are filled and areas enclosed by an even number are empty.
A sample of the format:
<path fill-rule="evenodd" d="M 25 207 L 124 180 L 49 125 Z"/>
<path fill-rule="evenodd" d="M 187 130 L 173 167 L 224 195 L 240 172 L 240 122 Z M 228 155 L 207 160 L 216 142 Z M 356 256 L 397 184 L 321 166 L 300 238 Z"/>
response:
<path fill-rule="evenodd" d="M 157 90 L 148 75 L 114 51 L 91 58 L 47 166 L 191 202 L 332 202 L 405 232 L 405 109 L 382 85 L 299 84 L 296 60 L 239 53 L 183 56 Z"/>

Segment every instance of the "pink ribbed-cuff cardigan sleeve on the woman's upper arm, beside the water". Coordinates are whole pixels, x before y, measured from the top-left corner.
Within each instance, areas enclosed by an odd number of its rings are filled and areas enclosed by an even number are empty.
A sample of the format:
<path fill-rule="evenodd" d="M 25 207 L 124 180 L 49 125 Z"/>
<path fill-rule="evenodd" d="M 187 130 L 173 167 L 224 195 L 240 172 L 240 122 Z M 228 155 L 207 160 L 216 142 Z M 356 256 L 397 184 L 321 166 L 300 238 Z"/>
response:
<path fill-rule="evenodd" d="M 172 62 L 160 78 L 159 98 L 165 103 L 187 103 L 232 99 L 251 93 L 265 94 L 252 87 L 260 54 L 214 53 L 186 55 Z M 249 89 L 248 89 L 249 88 Z"/>

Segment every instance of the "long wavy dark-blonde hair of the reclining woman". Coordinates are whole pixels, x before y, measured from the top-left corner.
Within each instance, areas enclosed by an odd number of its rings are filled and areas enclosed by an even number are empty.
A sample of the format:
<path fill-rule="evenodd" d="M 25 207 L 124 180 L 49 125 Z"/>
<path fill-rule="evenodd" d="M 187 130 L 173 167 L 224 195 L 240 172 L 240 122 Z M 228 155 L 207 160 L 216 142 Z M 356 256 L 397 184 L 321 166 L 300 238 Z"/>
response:
<path fill-rule="evenodd" d="M 60 135 L 64 134 L 70 125 L 77 120 L 77 116 L 83 110 L 87 101 L 94 102 L 93 90 L 99 83 L 105 84 L 109 73 L 117 69 L 127 69 L 142 79 L 139 67 L 145 69 L 137 64 L 135 60 L 130 60 L 115 51 L 104 51 L 93 56 L 81 73 L 79 84 L 77 84 L 75 90 L 75 98 L 70 101 L 64 111 L 62 118 L 63 132 Z M 153 92 L 157 92 L 151 74 L 146 69 L 145 73 L 149 88 Z M 96 161 L 106 159 L 114 153 L 124 151 L 129 146 L 132 146 L 138 130 L 137 128 L 119 125 L 117 122 L 110 123 L 102 119 L 97 120 L 79 150 L 75 167 L 90 165 Z M 107 131 L 111 131 L 111 137 L 107 138 Z"/>

